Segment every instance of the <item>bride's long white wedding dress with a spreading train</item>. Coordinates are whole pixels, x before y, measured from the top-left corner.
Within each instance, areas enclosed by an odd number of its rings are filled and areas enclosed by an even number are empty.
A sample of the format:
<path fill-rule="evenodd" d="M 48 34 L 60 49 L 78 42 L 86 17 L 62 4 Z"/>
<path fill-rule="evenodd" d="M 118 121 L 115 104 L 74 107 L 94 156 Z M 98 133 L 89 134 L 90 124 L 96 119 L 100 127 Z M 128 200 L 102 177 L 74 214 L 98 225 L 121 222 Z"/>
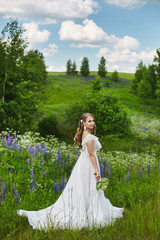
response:
<path fill-rule="evenodd" d="M 86 145 L 88 141 L 94 141 L 95 155 L 101 148 L 97 137 L 92 134 L 85 136 L 81 154 L 67 185 L 53 205 L 39 211 L 17 211 L 20 216 L 28 217 L 33 228 L 47 230 L 50 227 L 71 229 L 101 227 L 123 217 L 123 208 L 112 206 L 104 192 L 96 189 L 95 170 Z M 99 167 L 98 159 L 97 164 Z"/>

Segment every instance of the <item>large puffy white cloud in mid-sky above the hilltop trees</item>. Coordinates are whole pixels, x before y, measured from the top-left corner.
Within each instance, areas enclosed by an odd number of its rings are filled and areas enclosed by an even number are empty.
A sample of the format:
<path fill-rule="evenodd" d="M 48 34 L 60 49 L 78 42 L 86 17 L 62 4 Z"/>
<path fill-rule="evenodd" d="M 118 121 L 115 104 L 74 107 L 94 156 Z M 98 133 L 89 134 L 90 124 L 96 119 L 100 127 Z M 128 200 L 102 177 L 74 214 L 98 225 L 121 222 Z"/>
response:
<path fill-rule="evenodd" d="M 137 39 L 124 36 L 118 38 L 115 35 L 108 35 L 102 28 L 98 27 L 92 20 L 85 19 L 80 24 L 73 21 L 64 21 L 59 31 L 61 41 L 71 41 L 71 47 L 77 48 L 99 48 L 102 46 L 112 47 L 117 50 L 137 49 Z"/>

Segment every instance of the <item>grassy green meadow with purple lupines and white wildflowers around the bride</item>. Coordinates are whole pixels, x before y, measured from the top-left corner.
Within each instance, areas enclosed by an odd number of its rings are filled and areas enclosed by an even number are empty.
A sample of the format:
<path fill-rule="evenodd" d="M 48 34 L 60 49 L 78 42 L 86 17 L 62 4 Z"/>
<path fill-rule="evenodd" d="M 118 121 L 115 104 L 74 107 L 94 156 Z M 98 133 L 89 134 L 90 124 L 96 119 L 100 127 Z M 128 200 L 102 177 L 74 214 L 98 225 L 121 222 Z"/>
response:
<path fill-rule="evenodd" d="M 92 79 L 48 75 L 54 76 L 49 76 L 44 86 L 39 112 L 56 114 L 63 124 L 66 108 L 85 97 Z M 68 181 L 79 150 L 71 139 L 64 142 L 54 136 L 20 135 L 8 129 L 0 134 L 0 239 L 160 239 L 160 108 L 156 100 L 143 100 L 132 93 L 133 74 L 119 77 L 118 83 L 103 79 L 103 88 L 119 98 L 131 120 L 131 134 L 101 137 L 103 148 L 98 157 L 101 176 L 110 180 L 105 195 L 113 205 L 125 208 L 124 218 L 91 231 L 33 230 L 16 210 L 38 210 L 53 204 Z"/>

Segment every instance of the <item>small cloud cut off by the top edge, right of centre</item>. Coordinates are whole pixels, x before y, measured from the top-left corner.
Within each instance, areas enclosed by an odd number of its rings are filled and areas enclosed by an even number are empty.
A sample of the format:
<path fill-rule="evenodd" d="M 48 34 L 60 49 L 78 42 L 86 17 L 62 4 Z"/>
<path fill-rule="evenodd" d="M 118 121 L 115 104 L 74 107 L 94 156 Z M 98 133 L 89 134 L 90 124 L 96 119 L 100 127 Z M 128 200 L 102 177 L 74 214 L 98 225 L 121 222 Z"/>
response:
<path fill-rule="evenodd" d="M 105 2 L 123 8 L 136 8 L 145 5 L 148 0 L 105 0 Z"/>

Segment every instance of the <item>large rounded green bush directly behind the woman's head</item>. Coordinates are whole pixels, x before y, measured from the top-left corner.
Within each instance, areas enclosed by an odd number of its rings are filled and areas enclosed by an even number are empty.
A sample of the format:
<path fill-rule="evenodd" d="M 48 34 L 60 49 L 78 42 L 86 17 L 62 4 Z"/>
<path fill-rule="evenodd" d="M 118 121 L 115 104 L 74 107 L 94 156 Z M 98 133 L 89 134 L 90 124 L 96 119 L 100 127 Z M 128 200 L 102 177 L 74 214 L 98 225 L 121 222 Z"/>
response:
<path fill-rule="evenodd" d="M 124 136 L 129 132 L 129 120 L 118 99 L 103 90 L 88 94 L 81 102 L 74 103 L 66 110 L 66 122 L 72 127 L 73 134 L 84 112 L 95 116 L 99 136 Z"/>

